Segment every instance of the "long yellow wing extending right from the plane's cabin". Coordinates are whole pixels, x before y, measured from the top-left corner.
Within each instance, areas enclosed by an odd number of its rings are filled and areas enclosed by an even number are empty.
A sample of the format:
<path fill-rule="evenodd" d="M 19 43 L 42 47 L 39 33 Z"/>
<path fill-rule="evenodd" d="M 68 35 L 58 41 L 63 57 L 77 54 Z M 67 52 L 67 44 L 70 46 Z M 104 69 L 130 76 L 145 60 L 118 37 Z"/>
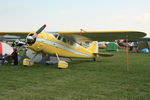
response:
<path fill-rule="evenodd" d="M 80 41 L 112 41 L 118 39 L 138 39 L 146 36 L 146 33 L 140 31 L 83 31 L 83 32 L 58 32 L 67 38 Z"/>

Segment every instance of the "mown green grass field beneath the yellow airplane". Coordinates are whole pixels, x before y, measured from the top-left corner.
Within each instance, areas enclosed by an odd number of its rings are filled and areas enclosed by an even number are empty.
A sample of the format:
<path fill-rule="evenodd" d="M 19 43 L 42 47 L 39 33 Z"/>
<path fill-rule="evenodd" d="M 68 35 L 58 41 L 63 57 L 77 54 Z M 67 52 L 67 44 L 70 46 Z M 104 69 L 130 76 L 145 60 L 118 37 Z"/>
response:
<path fill-rule="evenodd" d="M 0 100 L 150 100 L 150 54 L 73 59 L 68 69 L 0 66 Z"/>

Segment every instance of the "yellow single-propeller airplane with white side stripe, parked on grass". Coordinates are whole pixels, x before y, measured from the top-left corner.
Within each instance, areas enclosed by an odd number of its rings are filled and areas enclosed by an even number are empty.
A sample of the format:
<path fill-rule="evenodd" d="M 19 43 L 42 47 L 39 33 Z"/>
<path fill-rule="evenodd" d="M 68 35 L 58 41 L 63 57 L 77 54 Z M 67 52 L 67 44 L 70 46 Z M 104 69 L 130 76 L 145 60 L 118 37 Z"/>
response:
<path fill-rule="evenodd" d="M 36 32 L 0 32 L 1 35 L 17 35 L 25 37 L 26 45 L 36 54 L 44 53 L 52 56 L 69 58 L 93 58 L 111 56 L 109 53 L 98 52 L 97 41 L 117 39 L 137 39 L 146 34 L 139 31 L 80 31 L 80 32 L 42 32 L 43 25 Z M 94 41 L 91 41 L 94 40 Z M 59 60 L 58 67 L 66 68 L 68 63 Z"/>

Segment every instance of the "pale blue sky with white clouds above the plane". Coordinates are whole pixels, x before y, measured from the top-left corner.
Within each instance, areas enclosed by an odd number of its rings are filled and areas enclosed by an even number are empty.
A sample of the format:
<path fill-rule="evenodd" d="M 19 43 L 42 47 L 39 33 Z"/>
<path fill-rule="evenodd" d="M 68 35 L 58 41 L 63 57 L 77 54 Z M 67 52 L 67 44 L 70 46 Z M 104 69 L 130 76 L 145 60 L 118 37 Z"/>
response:
<path fill-rule="evenodd" d="M 150 0 L 0 0 L 0 31 L 142 31 Z"/>

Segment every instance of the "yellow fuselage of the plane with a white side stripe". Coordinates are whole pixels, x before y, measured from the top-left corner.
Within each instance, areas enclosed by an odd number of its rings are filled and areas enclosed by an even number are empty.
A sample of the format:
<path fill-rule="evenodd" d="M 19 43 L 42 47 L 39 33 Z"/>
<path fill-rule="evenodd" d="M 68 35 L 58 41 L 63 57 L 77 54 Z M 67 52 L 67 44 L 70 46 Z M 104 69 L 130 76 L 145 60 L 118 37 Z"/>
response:
<path fill-rule="evenodd" d="M 91 50 L 78 43 L 67 40 L 59 34 L 41 32 L 36 37 L 36 41 L 29 45 L 29 48 L 35 52 L 41 52 L 49 55 L 61 57 L 94 58 Z"/>

